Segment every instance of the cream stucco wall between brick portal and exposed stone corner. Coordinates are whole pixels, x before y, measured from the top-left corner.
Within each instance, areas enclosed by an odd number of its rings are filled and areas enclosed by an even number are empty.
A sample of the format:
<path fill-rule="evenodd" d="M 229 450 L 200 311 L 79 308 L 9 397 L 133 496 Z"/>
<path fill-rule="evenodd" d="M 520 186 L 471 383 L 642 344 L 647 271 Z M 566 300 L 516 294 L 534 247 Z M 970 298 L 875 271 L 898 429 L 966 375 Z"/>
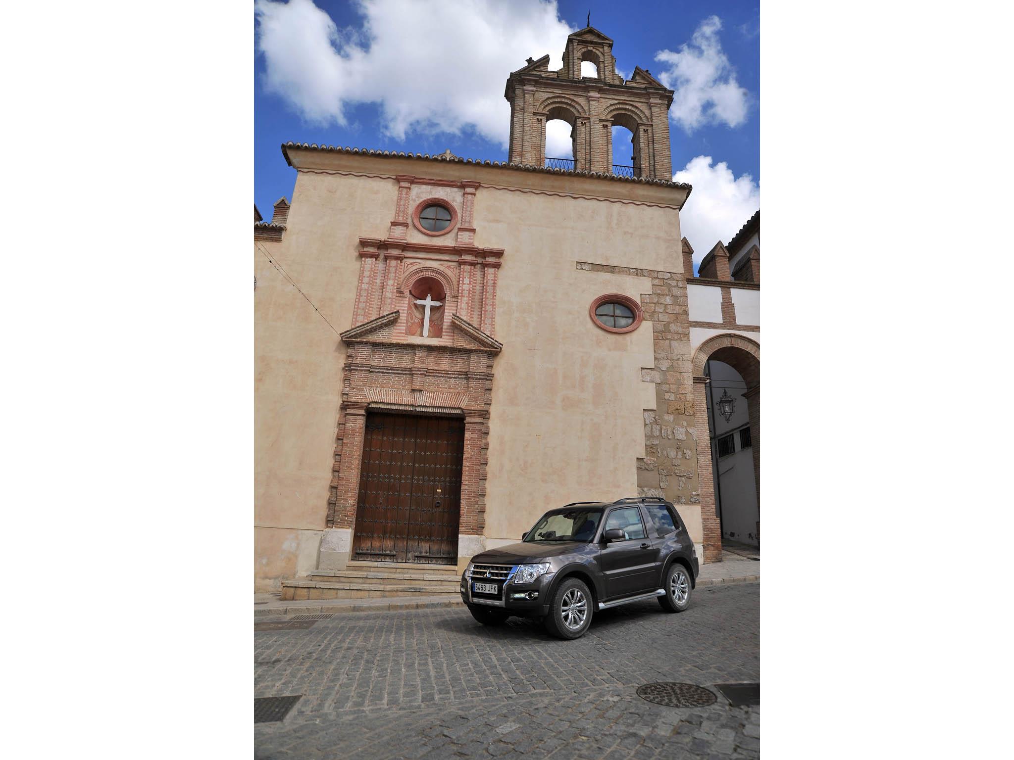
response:
<path fill-rule="evenodd" d="M 548 509 L 637 496 L 643 409 L 656 405 L 655 386 L 641 380 L 641 368 L 654 366 L 651 323 L 609 333 L 588 307 L 604 293 L 639 299 L 651 282 L 576 263 L 671 272 L 681 256 L 674 208 L 483 187 L 476 228 L 478 244 L 505 248 L 487 472 L 492 544 L 518 540 Z"/>

